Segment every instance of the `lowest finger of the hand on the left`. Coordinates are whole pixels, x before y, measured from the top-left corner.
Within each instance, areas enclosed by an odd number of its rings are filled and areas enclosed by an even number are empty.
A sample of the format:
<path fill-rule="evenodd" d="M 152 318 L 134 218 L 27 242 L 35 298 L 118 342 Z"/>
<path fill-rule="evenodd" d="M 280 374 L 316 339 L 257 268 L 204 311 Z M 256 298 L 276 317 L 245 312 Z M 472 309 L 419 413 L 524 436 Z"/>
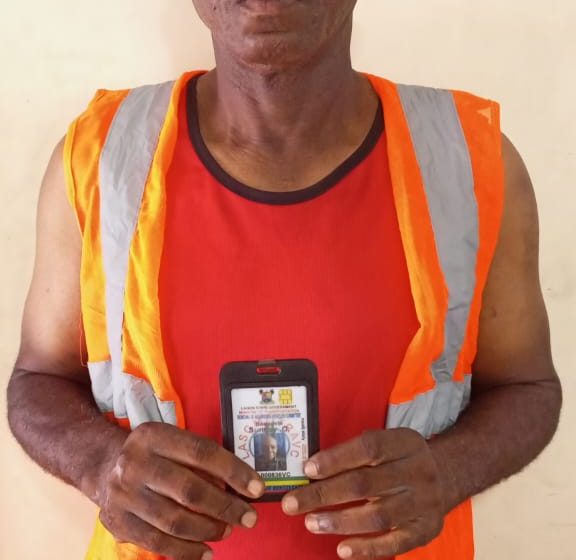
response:
<path fill-rule="evenodd" d="M 106 528 L 106 519 L 101 518 Z M 120 543 L 131 543 L 150 552 L 169 558 L 186 560 L 211 560 L 212 551 L 203 543 L 191 542 L 163 533 L 130 512 L 125 512 L 121 529 L 114 530 L 114 536 Z"/>

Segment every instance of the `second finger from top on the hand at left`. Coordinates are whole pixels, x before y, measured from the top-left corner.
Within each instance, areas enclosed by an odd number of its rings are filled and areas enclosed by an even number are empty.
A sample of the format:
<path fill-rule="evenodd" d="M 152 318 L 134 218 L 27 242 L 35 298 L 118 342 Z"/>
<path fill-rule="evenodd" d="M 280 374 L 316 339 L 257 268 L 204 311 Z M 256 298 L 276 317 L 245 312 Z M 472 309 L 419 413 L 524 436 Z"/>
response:
<path fill-rule="evenodd" d="M 213 486 L 190 469 L 157 457 L 146 487 L 184 506 L 228 525 L 252 528 L 257 515 L 246 502 Z"/>

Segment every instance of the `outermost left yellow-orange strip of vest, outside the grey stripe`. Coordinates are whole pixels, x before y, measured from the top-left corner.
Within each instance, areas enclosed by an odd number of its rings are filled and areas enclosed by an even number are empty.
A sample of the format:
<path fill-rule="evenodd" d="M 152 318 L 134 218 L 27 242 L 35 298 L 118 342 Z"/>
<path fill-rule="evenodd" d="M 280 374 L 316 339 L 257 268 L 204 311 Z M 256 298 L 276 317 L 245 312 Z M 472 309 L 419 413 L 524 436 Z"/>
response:
<path fill-rule="evenodd" d="M 110 358 L 100 244 L 98 162 L 112 119 L 127 94 L 128 90 L 99 90 L 88 109 L 70 125 L 64 144 L 68 199 L 76 211 L 82 232 L 82 322 L 90 362 Z"/>

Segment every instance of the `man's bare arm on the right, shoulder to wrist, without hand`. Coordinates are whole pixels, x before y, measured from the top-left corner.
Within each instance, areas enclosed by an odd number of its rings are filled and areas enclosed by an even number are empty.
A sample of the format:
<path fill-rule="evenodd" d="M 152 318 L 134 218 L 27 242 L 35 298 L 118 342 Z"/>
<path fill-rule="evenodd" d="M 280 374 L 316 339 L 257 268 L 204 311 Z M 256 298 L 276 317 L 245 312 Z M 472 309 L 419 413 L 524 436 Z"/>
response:
<path fill-rule="evenodd" d="M 472 404 L 430 442 L 448 509 L 518 472 L 552 439 L 562 390 L 538 270 L 538 213 L 522 158 L 503 137 L 504 216 L 490 268 Z"/>

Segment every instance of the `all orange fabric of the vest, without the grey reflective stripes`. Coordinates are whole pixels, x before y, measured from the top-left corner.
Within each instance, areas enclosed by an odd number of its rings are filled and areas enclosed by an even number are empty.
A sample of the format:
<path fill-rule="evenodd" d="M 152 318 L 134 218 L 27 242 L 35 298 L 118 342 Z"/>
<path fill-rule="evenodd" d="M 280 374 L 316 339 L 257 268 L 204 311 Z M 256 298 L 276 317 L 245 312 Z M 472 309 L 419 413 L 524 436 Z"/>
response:
<path fill-rule="evenodd" d="M 123 329 L 125 371 L 148 379 L 161 399 L 175 401 L 181 427 L 184 427 L 182 406 L 170 381 L 161 344 L 157 285 L 166 210 L 165 177 L 177 133 L 177 100 L 181 88 L 193 74 L 184 74 L 176 83 L 148 178 L 130 252 Z M 394 199 L 420 323 L 392 393 L 391 403 L 397 404 L 434 387 L 430 366 L 443 349 L 448 294 L 422 177 L 396 86 L 375 76 L 367 77 L 383 100 Z M 71 126 L 65 146 L 68 194 L 84 239 L 82 314 L 90 361 L 109 357 L 99 237 L 98 159 L 113 115 L 127 93 L 99 92 L 88 110 Z M 454 98 L 470 147 L 480 218 L 477 287 L 456 371 L 457 379 L 462 379 L 465 373 L 470 373 L 476 353 L 481 295 L 497 242 L 503 205 L 503 172 L 498 105 L 461 92 L 455 92 Z M 467 501 L 446 517 L 444 530 L 437 539 L 398 558 L 471 560 L 473 556 L 472 508 Z M 118 545 L 100 523 L 87 558 L 160 559 L 132 545 Z"/>

